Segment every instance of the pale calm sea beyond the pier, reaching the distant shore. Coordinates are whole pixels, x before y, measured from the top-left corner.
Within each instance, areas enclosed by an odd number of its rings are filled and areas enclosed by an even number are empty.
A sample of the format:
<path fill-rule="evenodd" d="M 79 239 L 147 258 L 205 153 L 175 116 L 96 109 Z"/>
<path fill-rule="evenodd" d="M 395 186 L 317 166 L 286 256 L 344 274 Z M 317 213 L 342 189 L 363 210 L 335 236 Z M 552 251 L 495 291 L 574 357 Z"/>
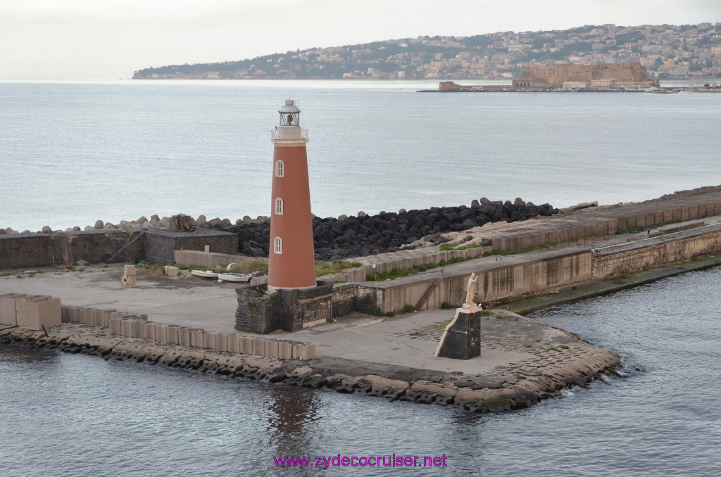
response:
<path fill-rule="evenodd" d="M 267 215 L 268 130 L 309 129 L 317 215 L 721 184 L 719 94 L 421 94 L 433 83 L 0 81 L 0 227 Z"/>

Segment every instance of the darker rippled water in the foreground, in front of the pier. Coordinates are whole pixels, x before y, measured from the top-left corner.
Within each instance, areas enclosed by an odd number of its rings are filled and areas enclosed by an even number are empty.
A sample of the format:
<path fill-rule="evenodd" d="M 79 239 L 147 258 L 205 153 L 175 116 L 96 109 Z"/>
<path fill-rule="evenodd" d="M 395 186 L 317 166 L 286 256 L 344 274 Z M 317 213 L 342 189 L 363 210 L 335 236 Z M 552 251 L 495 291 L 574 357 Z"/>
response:
<path fill-rule="evenodd" d="M 721 268 L 536 313 L 627 378 L 511 414 L 0 347 L 3 476 L 718 476 Z M 278 455 L 448 468 L 276 468 Z"/>

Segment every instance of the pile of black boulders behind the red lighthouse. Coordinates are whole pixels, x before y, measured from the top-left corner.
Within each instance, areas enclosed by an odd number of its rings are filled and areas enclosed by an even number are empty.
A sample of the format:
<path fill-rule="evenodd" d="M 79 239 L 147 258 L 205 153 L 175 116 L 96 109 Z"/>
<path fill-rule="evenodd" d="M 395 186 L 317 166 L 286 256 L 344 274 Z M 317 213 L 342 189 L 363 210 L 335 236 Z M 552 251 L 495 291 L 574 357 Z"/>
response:
<path fill-rule="evenodd" d="M 414 241 L 433 233 L 463 231 L 489 222 L 515 222 L 537 215 L 552 215 L 558 209 L 551 205 L 534 205 L 516 199 L 515 202 L 474 200 L 471 207 L 432 207 L 422 210 L 399 210 L 398 213 L 381 212 L 378 215 L 340 215 L 338 218 L 313 219 L 313 240 L 316 258 L 335 260 L 348 257 L 366 257 L 387 251 L 397 251 Z M 211 228 L 237 233 L 239 252 L 245 255 L 267 257 L 270 244 L 270 222 L 255 220 Z"/>

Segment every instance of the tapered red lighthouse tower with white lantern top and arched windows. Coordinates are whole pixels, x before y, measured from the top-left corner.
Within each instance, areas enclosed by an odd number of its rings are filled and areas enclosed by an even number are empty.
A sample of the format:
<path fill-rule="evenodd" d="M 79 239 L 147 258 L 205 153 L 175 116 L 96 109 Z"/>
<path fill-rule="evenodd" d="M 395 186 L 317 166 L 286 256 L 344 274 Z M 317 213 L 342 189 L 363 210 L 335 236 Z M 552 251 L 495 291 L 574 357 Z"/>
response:
<path fill-rule="evenodd" d="M 273 211 L 270 214 L 268 291 L 316 286 L 311 195 L 306 143 L 298 103 L 288 99 L 278 110 L 273 140 Z"/>

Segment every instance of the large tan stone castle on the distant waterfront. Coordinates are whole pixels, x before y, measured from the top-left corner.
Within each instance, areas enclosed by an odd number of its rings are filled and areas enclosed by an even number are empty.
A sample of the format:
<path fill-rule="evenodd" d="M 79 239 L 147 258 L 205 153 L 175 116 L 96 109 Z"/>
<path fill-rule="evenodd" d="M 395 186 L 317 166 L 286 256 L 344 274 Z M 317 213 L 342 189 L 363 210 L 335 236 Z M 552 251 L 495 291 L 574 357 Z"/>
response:
<path fill-rule="evenodd" d="M 513 81 L 514 89 L 643 89 L 658 88 L 658 79 L 648 79 L 641 63 L 558 65 L 541 69 L 528 66 Z"/>

